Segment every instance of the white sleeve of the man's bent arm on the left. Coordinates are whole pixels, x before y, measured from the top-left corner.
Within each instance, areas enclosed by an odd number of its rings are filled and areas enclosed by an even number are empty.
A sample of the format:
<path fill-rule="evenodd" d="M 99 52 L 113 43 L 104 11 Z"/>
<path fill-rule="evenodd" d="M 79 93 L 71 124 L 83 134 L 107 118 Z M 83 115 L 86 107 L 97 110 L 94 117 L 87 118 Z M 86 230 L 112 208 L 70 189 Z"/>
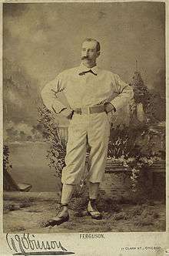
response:
<path fill-rule="evenodd" d="M 71 115 L 72 110 L 61 103 L 57 98 L 57 93 L 63 91 L 65 88 L 61 81 L 61 75 L 58 75 L 54 80 L 47 83 L 41 90 L 41 98 L 45 106 L 55 113 L 61 113 L 63 116 L 68 117 Z"/>

